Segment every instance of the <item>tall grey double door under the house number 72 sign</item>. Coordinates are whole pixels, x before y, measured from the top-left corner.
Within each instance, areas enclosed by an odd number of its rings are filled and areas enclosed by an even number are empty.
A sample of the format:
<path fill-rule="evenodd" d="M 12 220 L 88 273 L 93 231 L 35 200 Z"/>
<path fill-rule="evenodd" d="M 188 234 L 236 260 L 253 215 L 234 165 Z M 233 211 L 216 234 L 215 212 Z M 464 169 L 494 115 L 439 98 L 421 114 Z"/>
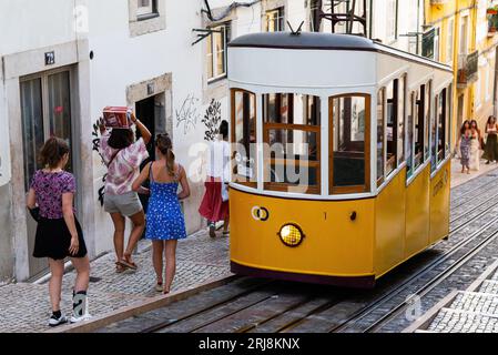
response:
<path fill-rule="evenodd" d="M 68 142 L 71 148 L 67 170 L 74 173 L 72 116 L 71 116 L 71 74 L 70 70 L 59 70 L 23 78 L 20 82 L 22 139 L 24 158 L 24 190 L 28 193 L 30 182 L 38 169 L 38 154 L 44 141 L 55 135 Z M 78 199 L 75 199 L 78 201 Z M 77 210 L 78 206 L 77 206 Z M 48 268 L 45 258 L 32 257 L 37 224 L 27 214 L 29 272 L 30 277 Z"/>

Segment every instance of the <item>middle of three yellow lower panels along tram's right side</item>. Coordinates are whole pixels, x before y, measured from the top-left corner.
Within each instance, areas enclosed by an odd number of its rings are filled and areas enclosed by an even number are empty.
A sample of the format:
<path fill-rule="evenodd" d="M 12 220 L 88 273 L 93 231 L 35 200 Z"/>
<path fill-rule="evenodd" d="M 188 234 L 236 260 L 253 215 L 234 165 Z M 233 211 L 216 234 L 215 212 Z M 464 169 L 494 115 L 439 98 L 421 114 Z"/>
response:
<path fill-rule="evenodd" d="M 406 190 L 405 260 L 425 250 L 429 243 L 430 165 L 424 168 Z"/>

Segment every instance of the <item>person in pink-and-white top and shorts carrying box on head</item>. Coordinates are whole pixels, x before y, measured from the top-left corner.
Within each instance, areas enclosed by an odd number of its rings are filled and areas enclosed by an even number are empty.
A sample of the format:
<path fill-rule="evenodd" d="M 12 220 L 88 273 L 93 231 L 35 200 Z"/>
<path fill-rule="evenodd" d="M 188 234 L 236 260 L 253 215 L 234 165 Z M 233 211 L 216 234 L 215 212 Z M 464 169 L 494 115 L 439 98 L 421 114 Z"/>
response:
<path fill-rule="evenodd" d="M 116 272 L 126 268 L 136 270 L 131 255 L 145 227 L 145 215 L 139 195 L 133 191 L 133 181 L 139 175 L 140 164 L 149 158 L 146 144 L 152 135 L 145 125 L 131 114 L 132 122 L 142 134 L 134 142 L 133 131 L 130 129 L 113 129 L 106 131 L 103 120 L 100 120 L 102 134 L 100 153 L 108 165 L 105 181 L 104 210 L 110 213 L 114 224 L 114 248 L 116 255 Z M 125 217 L 130 217 L 133 229 L 124 251 Z"/>

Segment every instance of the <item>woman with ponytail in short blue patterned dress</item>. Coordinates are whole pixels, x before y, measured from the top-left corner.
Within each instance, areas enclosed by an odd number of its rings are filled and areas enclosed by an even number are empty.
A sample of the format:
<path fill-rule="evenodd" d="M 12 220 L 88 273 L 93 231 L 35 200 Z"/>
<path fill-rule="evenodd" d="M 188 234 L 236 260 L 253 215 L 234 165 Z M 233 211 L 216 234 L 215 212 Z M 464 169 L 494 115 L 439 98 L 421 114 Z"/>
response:
<path fill-rule="evenodd" d="M 155 141 L 157 160 L 149 163 L 133 183 L 133 190 L 141 190 L 150 179 L 149 209 L 146 213 L 145 239 L 152 241 L 152 262 L 157 277 L 155 290 L 170 293 L 176 271 L 177 241 L 186 237 L 185 220 L 180 201 L 190 196 L 185 170 L 175 163 L 173 146 L 167 134 L 160 134 Z M 179 185 L 182 192 L 177 194 Z M 166 258 L 166 278 L 163 283 L 163 252 Z"/>

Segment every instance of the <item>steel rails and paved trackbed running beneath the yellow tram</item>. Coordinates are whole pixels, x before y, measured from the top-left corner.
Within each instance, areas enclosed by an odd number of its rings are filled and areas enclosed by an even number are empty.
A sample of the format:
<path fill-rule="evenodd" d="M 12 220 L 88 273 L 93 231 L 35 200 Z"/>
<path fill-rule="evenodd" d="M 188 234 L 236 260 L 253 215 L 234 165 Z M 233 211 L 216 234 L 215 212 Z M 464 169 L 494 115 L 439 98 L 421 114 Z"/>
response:
<path fill-rule="evenodd" d="M 399 322 L 414 300 L 436 291 L 445 295 L 448 277 L 498 244 L 498 199 L 492 197 L 498 196 L 497 182 L 494 171 L 454 190 L 458 197 L 451 199 L 449 241 L 404 263 L 380 278 L 375 290 L 237 277 L 96 332 L 384 332 Z"/>

